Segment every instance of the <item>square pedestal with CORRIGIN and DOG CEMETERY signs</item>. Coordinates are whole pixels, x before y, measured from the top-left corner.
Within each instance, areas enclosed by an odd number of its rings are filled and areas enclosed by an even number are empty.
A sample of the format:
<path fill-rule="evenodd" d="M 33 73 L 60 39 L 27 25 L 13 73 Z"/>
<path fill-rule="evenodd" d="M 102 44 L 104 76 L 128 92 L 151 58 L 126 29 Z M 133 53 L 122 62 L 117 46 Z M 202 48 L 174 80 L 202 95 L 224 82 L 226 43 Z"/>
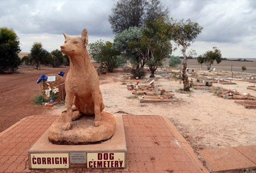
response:
<path fill-rule="evenodd" d="M 115 134 L 100 144 L 52 144 L 49 128 L 29 149 L 29 168 L 126 168 L 123 117 L 114 118 L 117 122 Z"/>

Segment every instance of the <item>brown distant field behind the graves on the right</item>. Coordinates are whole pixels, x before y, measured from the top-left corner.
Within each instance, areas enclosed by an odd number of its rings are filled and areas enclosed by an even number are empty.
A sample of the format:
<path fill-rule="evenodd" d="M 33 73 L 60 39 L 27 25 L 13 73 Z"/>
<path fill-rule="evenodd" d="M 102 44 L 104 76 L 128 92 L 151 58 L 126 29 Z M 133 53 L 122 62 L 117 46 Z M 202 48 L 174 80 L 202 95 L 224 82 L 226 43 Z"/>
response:
<path fill-rule="evenodd" d="M 166 60 L 166 65 L 168 65 L 168 61 L 169 59 Z M 183 61 L 183 60 L 181 60 Z M 233 71 L 237 71 L 237 72 L 241 72 L 242 66 L 246 67 L 246 71 L 244 71 L 245 73 L 253 73 L 256 74 L 256 62 L 244 62 L 244 61 L 221 61 L 221 63 L 219 63 L 219 65 L 217 65 L 216 63 L 213 63 L 213 65 L 211 66 L 211 69 L 216 68 L 217 71 L 231 71 L 231 65 L 233 65 L 232 69 Z M 201 69 L 201 65 L 199 63 L 197 63 L 196 59 L 188 59 L 187 60 L 187 68 L 189 69 Z M 207 69 L 206 65 L 202 66 L 203 69 Z"/>

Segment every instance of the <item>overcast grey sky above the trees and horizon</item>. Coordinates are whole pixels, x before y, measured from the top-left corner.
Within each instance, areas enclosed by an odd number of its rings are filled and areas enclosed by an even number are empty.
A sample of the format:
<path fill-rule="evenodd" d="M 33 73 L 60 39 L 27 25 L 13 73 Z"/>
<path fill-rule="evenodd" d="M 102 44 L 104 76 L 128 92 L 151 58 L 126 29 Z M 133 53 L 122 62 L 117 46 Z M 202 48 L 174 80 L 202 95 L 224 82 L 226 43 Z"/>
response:
<path fill-rule="evenodd" d="M 62 33 L 81 35 L 86 28 L 89 43 L 113 41 L 108 17 L 114 0 L 25 1 L 0 0 L 0 27 L 13 29 L 21 52 L 34 42 L 47 51 L 64 43 Z M 216 46 L 226 58 L 256 58 L 256 0 L 162 0 L 174 19 L 191 19 L 203 27 L 190 47 L 197 55 Z M 175 51 L 175 55 L 181 55 Z"/>

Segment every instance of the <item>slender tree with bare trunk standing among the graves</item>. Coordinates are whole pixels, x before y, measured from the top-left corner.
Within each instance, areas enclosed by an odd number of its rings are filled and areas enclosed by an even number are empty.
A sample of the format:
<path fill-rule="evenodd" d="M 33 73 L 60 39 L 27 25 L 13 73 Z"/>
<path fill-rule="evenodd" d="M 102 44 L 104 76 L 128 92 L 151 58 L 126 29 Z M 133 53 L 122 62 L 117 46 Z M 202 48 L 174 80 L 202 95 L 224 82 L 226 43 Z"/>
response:
<path fill-rule="evenodd" d="M 195 41 L 199 33 L 203 30 L 198 23 L 192 22 L 190 19 L 184 21 L 175 22 L 172 26 L 173 31 L 173 41 L 177 43 L 178 46 L 181 46 L 181 52 L 183 53 L 183 69 L 182 69 L 182 81 L 183 81 L 183 90 L 189 91 L 190 84 L 189 78 L 187 77 L 187 55 L 186 51 L 188 47 Z"/>

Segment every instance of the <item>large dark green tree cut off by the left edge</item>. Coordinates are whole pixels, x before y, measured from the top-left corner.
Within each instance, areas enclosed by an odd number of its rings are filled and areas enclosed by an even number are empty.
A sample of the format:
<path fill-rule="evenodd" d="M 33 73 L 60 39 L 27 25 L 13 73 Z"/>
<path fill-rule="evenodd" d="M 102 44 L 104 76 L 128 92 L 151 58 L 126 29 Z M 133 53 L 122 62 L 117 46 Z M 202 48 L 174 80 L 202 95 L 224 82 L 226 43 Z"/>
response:
<path fill-rule="evenodd" d="M 13 29 L 0 28 L 0 73 L 15 72 L 21 64 L 19 38 Z"/>

